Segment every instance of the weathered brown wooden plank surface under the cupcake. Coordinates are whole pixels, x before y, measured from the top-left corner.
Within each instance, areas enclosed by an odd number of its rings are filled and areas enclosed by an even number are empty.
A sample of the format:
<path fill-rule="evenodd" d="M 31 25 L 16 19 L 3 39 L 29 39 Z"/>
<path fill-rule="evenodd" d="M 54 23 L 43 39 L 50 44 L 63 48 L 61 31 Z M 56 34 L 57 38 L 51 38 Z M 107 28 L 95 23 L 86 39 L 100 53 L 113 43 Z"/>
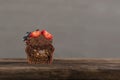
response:
<path fill-rule="evenodd" d="M 25 59 L 0 59 L 0 80 L 120 80 L 119 59 L 55 59 L 53 64 L 28 64 Z"/>

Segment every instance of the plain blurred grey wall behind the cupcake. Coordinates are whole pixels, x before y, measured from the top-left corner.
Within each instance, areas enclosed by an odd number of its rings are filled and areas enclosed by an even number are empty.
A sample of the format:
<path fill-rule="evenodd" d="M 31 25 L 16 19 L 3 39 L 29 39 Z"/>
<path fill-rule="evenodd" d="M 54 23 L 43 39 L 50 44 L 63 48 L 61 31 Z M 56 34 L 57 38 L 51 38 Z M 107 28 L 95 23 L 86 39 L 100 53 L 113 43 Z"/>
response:
<path fill-rule="evenodd" d="M 0 0 L 0 58 L 24 58 L 22 37 L 46 29 L 57 58 L 120 58 L 120 0 Z"/>

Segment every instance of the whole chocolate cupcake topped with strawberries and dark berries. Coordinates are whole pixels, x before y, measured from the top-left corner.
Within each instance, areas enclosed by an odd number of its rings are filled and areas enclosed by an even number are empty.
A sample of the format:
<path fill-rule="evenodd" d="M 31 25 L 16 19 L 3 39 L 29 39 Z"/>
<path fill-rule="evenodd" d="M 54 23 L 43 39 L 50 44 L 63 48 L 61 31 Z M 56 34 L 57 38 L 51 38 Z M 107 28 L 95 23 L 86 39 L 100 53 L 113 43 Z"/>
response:
<path fill-rule="evenodd" d="M 30 64 L 51 64 L 53 61 L 53 36 L 46 30 L 27 32 L 23 37 L 25 52 Z"/>

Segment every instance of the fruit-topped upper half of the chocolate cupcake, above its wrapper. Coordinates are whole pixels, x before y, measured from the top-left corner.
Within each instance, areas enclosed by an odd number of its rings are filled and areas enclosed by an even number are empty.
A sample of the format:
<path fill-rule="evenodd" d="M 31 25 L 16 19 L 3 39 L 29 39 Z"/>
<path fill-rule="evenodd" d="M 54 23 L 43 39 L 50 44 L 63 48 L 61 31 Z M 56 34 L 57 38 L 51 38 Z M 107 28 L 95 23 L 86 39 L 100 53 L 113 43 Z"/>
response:
<path fill-rule="evenodd" d="M 40 31 L 39 29 L 37 29 L 32 32 L 26 32 L 23 40 L 26 42 L 27 45 L 51 44 L 53 41 L 53 35 L 46 30 Z"/>

